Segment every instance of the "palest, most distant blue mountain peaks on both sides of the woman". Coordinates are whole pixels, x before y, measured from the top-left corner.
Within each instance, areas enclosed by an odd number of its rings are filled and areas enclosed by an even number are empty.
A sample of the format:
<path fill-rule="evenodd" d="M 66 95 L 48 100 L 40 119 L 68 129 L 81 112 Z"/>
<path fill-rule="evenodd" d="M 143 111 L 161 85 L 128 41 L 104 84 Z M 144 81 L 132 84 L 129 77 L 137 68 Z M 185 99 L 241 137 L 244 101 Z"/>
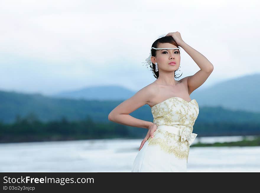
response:
<path fill-rule="evenodd" d="M 141 88 L 140 88 L 141 89 Z M 61 92 L 52 97 L 86 100 L 126 100 L 137 91 L 121 86 L 96 86 Z M 225 80 L 207 88 L 203 85 L 191 93 L 199 106 L 222 106 L 232 110 L 260 112 L 260 74 Z"/>

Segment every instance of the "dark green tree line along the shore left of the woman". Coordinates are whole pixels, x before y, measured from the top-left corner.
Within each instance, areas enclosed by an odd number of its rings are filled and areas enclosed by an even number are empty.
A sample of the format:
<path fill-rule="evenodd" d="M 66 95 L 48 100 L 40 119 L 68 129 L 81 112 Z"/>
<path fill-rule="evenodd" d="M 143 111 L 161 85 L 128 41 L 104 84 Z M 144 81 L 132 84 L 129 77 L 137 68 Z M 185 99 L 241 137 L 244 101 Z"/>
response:
<path fill-rule="evenodd" d="M 129 136 L 128 128 L 117 123 L 94 123 L 90 116 L 84 120 L 42 122 L 34 113 L 24 118 L 17 115 L 14 123 L 0 122 L 0 142 L 49 141 L 122 138 Z"/>

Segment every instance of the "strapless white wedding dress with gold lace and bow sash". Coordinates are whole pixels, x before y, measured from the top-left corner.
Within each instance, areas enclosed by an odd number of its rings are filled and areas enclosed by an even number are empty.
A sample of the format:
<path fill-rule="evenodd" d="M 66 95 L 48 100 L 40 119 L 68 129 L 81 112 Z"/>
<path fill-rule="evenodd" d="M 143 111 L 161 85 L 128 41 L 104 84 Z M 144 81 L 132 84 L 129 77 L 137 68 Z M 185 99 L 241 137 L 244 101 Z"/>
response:
<path fill-rule="evenodd" d="M 199 115 L 197 101 L 172 97 L 151 111 L 157 129 L 138 151 L 131 172 L 186 172 L 190 145 L 197 136 L 192 133 Z"/>

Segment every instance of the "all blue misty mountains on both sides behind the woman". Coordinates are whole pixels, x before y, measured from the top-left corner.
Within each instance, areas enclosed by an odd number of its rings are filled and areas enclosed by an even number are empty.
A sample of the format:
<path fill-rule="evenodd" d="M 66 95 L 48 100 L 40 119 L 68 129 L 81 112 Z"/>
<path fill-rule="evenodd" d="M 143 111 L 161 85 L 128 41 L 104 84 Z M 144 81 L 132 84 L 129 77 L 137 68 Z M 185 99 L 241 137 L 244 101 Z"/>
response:
<path fill-rule="evenodd" d="M 199 104 L 198 121 L 259 122 L 259 83 L 260 75 L 256 74 L 195 90 L 191 93 L 191 99 L 195 98 Z M 67 92 L 68 98 L 0 91 L 0 121 L 13 122 L 25 116 L 38 118 L 41 121 L 63 117 L 73 121 L 90 116 L 94 121 L 106 122 L 111 110 L 134 94 L 135 92 L 119 86 L 90 87 L 71 91 Z M 80 99 L 75 99 L 73 96 Z M 85 99 L 84 96 L 90 99 Z M 149 105 L 142 106 L 130 115 L 152 121 Z"/>

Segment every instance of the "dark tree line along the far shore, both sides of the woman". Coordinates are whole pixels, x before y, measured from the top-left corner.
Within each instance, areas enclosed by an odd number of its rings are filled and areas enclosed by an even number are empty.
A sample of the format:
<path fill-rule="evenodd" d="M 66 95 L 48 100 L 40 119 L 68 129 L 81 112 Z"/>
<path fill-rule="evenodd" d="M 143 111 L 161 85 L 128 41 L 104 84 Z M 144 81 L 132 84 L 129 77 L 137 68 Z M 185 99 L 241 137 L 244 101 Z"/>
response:
<path fill-rule="evenodd" d="M 26 141 L 59 141 L 103 138 L 144 138 L 146 128 L 125 126 L 111 121 L 94 122 L 88 115 L 83 120 L 40 121 L 34 113 L 22 118 L 17 115 L 13 123 L 0 122 L 0 143 Z M 228 121 L 195 122 L 193 133 L 202 136 L 260 135 L 259 123 L 234 123 Z"/>

